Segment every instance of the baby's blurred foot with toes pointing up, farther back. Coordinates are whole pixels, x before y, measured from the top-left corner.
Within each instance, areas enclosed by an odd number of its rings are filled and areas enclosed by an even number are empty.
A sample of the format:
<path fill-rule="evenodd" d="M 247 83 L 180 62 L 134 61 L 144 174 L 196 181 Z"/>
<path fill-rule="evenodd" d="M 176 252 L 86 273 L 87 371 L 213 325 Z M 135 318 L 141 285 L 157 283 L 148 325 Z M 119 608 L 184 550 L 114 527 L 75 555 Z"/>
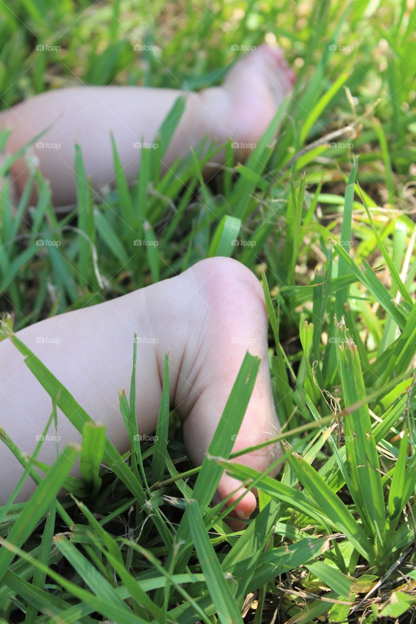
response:
<path fill-rule="evenodd" d="M 227 74 L 222 85 L 232 98 L 227 126 L 243 157 L 254 149 L 294 83 L 282 50 L 267 44 L 239 59 Z"/>

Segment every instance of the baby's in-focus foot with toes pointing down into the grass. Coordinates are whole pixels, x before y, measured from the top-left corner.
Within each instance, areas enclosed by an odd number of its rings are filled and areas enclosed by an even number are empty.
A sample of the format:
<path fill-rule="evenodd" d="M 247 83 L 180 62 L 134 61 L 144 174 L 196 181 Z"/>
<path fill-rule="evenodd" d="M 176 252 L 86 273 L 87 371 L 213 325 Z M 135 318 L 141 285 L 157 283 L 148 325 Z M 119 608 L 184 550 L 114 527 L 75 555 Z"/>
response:
<path fill-rule="evenodd" d="M 267 358 L 268 319 L 259 281 L 244 265 L 229 258 L 203 260 L 182 278 L 193 296 L 175 403 L 177 411 L 185 417 L 187 452 L 199 465 L 206 456 L 247 350 L 262 361 L 234 451 L 275 436 L 278 423 Z M 159 360 L 162 363 L 162 353 Z M 264 472 L 279 455 L 279 444 L 272 444 L 235 461 Z M 224 473 L 217 489 L 220 499 L 226 499 L 234 490 L 237 491 L 227 505 L 244 494 L 235 507 L 235 515 L 248 518 L 256 507 L 254 494 Z"/>

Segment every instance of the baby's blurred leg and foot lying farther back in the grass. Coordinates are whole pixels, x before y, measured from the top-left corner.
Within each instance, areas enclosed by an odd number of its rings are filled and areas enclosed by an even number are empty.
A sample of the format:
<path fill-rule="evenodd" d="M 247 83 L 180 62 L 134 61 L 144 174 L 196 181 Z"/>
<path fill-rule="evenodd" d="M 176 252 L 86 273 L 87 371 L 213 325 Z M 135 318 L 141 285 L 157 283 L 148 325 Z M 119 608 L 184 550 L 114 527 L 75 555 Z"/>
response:
<path fill-rule="evenodd" d="M 112 132 L 127 182 L 132 183 L 142 149 L 154 148 L 163 120 L 177 97 L 185 95 L 186 109 L 162 158 L 162 170 L 189 154 L 204 137 L 217 144 L 232 140 L 237 157 L 245 158 L 292 90 L 294 78 L 282 51 L 263 45 L 241 57 L 222 86 L 201 93 L 114 85 L 57 89 L 1 112 L 0 127 L 12 129 L 7 142 L 12 154 L 46 130 L 34 143 L 34 154 L 51 182 L 54 205 L 71 205 L 76 202 L 76 144 L 99 193 L 114 185 Z M 215 158 L 219 167 L 224 154 Z M 209 175 L 214 170 L 209 168 Z M 12 172 L 21 193 L 27 180 L 24 158 L 14 163 Z"/>

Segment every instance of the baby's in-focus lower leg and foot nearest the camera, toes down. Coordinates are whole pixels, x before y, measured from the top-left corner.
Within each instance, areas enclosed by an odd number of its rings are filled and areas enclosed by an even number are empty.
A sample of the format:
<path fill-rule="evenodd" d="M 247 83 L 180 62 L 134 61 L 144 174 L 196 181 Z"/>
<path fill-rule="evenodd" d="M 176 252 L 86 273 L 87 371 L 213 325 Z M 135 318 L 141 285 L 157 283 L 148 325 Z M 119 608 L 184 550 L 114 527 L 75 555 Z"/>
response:
<path fill-rule="evenodd" d="M 267 313 L 259 281 L 245 266 L 229 258 L 203 260 L 171 280 L 46 319 L 17 333 L 92 419 L 106 425 L 107 436 L 120 452 L 127 450 L 129 441 L 118 392 L 130 385 L 134 331 L 139 337 L 136 408 L 141 434 L 156 429 L 164 355 L 169 351 L 171 404 L 184 419 L 187 452 L 201 464 L 248 349 L 261 358 L 261 365 L 234 450 L 275 435 Z M 0 425 L 21 451 L 30 454 L 51 414 L 51 399 L 9 339 L 0 343 L 0 388 Z M 61 448 L 80 440 L 61 412 L 57 434 Z M 279 446 L 267 446 L 235 461 L 264 471 L 279 454 Z M 38 459 L 51 464 L 55 457 L 56 441 L 46 439 Z M 22 469 L 1 443 L 0 464 L 1 505 Z M 218 494 L 225 499 L 236 488 L 239 492 L 230 502 L 245 492 L 236 515 L 249 517 L 255 497 L 239 481 L 224 474 Z M 27 480 L 20 500 L 33 489 Z"/>

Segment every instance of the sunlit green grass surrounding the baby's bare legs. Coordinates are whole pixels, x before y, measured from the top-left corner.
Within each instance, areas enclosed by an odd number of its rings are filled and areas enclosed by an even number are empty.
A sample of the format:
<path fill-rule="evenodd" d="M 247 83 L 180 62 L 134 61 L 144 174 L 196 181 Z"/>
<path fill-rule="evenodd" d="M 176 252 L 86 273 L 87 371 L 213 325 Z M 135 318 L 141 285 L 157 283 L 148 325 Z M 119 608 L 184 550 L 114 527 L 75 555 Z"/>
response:
<path fill-rule="evenodd" d="M 80 81 L 202 89 L 219 84 L 236 58 L 232 46 L 274 37 L 299 76 L 249 160 L 234 162 L 228 146 L 227 167 L 207 183 L 201 170 L 212 150 L 202 157 L 202 146 L 161 175 L 174 123 L 161 128 L 158 150 L 144 150 L 132 188 L 114 145 L 115 188 L 104 200 L 78 151 L 68 215 L 54 213 L 36 170 L 13 213 L 11 160 L 0 161 L 0 310 L 14 313 L 4 331 L 208 256 L 237 258 L 265 290 L 286 460 L 277 479 L 229 461 L 224 441 L 244 415 L 255 358 L 245 359 L 209 455 L 194 469 L 169 418 L 168 363 L 155 445 L 139 442 L 134 381 L 121 389 L 131 441 L 121 457 L 28 357 L 56 401 L 47 427 L 59 407 L 83 441 L 41 478 L 36 457 L 27 461 L 7 423 L 0 427 L 24 477 L 38 484 L 26 504 L 0 508 L 1 623 L 414 621 L 416 9 L 406 6 L 0 4 L 1 108 Z M 179 99 L 167 121 L 182 109 Z M 3 131 L 0 148 L 5 140 Z M 76 456 L 82 480 L 68 476 Z M 224 469 L 259 490 L 259 512 L 238 534 L 210 506 Z M 56 499 L 62 485 L 73 498 Z"/>

